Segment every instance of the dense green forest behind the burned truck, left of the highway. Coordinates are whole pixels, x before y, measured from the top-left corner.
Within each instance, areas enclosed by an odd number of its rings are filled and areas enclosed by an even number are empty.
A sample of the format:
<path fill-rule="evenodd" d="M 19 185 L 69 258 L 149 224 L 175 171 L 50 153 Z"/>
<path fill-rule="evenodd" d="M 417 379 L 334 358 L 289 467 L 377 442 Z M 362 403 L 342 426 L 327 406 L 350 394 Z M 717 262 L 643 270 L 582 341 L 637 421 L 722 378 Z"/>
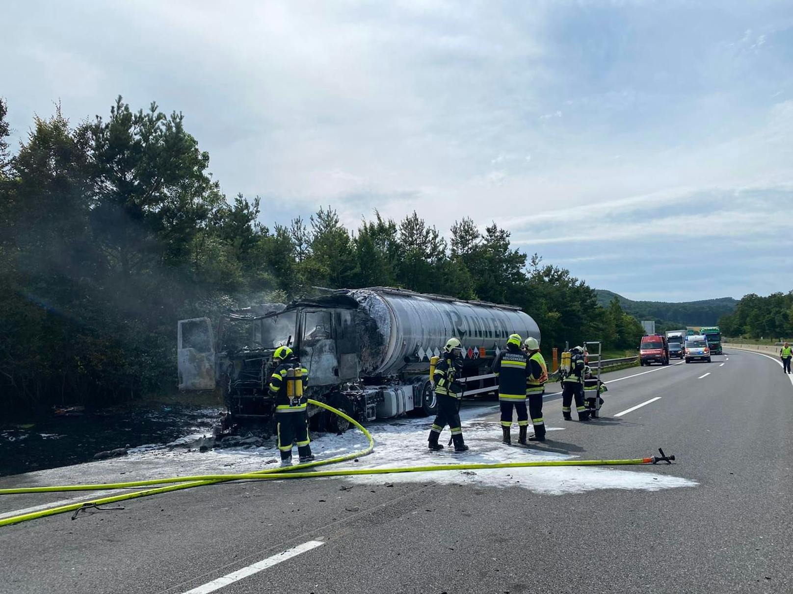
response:
<path fill-rule="evenodd" d="M 174 390 L 176 322 L 311 287 L 390 285 L 522 307 L 543 350 L 600 339 L 634 348 L 618 300 L 600 307 L 569 271 L 459 216 L 373 211 L 347 229 L 331 207 L 266 226 L 266 204 L 227 200 L 181 113 L 133 111 L 76 125 L 36 117 L 10 147 L 0 101 L 0 406 L 112 405 Z"/>

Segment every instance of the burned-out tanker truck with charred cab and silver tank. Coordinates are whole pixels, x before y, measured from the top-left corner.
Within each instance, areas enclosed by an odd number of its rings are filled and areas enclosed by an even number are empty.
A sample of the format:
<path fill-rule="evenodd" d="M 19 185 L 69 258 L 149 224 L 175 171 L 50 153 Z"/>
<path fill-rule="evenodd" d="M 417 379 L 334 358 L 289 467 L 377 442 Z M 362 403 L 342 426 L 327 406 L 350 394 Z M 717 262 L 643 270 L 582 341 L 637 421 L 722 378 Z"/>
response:
<path fill-rule="evenodd" d="M 519 307 L 422 295 L 389 287 L 342 289 L 178 322 L 180 390 L 220 390 L 228 412 L 218 432 L 262 425 L 275 404 L 267 391 L 275 348 L 288 345 L 308 368 L 309 398 L 359 421 L 416 411 L 434 414 L 430 359 L 450 337 L 463 347 L 464 396 L 496 390 L 492 360 L 511 333 L 539 340 Z M 347 421 L 309 407 L 312 427 L 343 432 Z"/>

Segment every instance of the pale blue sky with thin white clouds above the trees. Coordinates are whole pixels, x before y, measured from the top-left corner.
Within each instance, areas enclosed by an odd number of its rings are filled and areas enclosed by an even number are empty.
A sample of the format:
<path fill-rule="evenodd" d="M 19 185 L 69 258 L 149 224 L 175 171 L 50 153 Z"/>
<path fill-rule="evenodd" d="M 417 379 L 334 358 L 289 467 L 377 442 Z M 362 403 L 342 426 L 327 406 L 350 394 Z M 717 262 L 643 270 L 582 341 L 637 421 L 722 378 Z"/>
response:
<path fill-rule="evenodd" d="M 262 223 L 469 216 L 630 299 L 793 289 L 793 3 L 4 4 L 14 135 L 181 111 Z"/>

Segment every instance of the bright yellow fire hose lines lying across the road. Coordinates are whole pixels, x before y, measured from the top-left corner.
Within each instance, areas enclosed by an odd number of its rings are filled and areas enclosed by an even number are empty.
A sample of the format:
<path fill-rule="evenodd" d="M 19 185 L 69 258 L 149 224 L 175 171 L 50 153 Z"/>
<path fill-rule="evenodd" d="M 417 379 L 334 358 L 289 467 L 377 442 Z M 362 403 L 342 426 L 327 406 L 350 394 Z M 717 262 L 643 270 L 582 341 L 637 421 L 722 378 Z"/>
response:
<path fill-rule="evenodd" d="M 82 507 L 104 505 L 114 503 L 117 501 L 125 501 L 127 499 L 135 499 L 136 497 L 147 497 L 149 495 L 156 495 L 159 493 L 168 493 L 169 491 L 176 491 L 178 489 L 190 489 L 191 487 L 203 485 L 215 485 L 220 482 L 228 481 L 241 481 L 241 480 L 283 480 L 286 478 L 319 478 L 319 477 L 339 477 L 339 476 L 355 476 L 361 474 L 393 474 L 405 472 L 434 472 L 437 470 L 490 470 L 496 468 L 527 468 L 534 466 L 616 466 L 626 464 L 649 464 L 658 461 L 674 460 L 675 457 L 665 456 L 661 451 L 661 456 L 651 456 L 649 458 L 635 458 L 635 459 L 617 459 L 617 460 L 547 460 L 542 462 L 509 462 L 509 463 L 462 463 L 462 464 L 435 464 L 431 466 L 408 466 L 402 468 L 365 468 L 365 469 L 349 469 L 349 470 L 320 470 L 313 472 L 295 472 L 294 470 L 304 470 L 306 468 L 325 466 L 328 464 L 345 462 L 347 460 L 360 458 L 369 455 L 374 450 L 374 439 L 366 428 L 349 417 L 343 411 L 333 408 L 324 404 L 324 402 L 317 402 L 316 400 L 308 400 L 314 406 L 327 409 L 331 413 L 343 417 L 350 421 L 353 425 L 359 428 L 366 439 L 369 440 L 369 445 L 361 450 L 355 451 L 351 454 L 336 456 L 335 458 L 327 460 L 318 460 L 316 462 L 297 464 L 292 466 L 289 470 L 282 468 L 272 468 L 269 470 L 258 470 L 246 474 L 199 474 L 197 476 L 185 477 L 170 477 L 170 478 L 155 478 L 146 481 L 131 481 L 131 482 L 116 482 L 116 483 L 103 483 L 97 485 L 59 485 L 47 487 L 23 487 L 17 489 L 0 489 L 0 495 L 17 495 L 23 493 L 54 493 L 60 491 L 90 491 L 90 490 L 104 490 L 104 489 L 132 489 L 135 487 L 163 485 L 169 483 L 178 483 L 176 485 L 168 485 L 158 487 L 156 489 L 144 489 L 135 491 L 133 493 L 124 493 L 122 495 L 114 495 L 112 497 L 102 497 L 101 499 L 94 499 L 93 501 L 82 501 L 70 505 L 60 505 L 53 508 L 42 509 L 37 512 L 30 512 L 20 514 L 19 516 L 10 516 L 0 520 L 0 526 L 9 524 L 18 524 L 25 520 L 35 520 L 44 516 L 53 516 L 58 513 L 73 512 Z"/>

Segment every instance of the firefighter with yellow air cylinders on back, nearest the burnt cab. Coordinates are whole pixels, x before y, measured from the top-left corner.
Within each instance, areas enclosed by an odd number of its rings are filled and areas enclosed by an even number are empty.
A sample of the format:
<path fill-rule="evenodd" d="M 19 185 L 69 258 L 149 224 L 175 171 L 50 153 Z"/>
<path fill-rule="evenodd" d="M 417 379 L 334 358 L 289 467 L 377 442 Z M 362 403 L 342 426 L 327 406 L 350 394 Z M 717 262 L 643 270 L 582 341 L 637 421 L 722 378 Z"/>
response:
<path fill-rule="evenodd" d="M 275 421 L 278 428 L 278 449 L 281 466 L 292 464 L 292 447 L 297 441 L 301 463 L 314 459 L 308 445 L 307 397 L 308 369 L 303 367 L 292 349 L 278 347 L 273 353 L 273 375 L 270 376 L 270 396 L 275 398 Z"/>

